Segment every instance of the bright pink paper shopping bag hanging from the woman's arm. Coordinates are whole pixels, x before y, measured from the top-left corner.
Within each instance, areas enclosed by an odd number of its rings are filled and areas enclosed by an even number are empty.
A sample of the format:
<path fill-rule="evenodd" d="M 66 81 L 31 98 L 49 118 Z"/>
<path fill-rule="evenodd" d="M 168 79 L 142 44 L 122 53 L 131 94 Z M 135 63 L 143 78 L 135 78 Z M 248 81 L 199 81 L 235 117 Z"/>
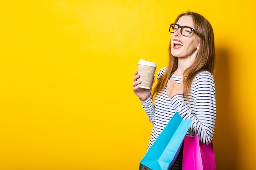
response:
<path fill-rule="evenodd" d="M 213 143 L 202 145 L 198 135 L 185 136 L 182 170 L 216 170 Z"/>

